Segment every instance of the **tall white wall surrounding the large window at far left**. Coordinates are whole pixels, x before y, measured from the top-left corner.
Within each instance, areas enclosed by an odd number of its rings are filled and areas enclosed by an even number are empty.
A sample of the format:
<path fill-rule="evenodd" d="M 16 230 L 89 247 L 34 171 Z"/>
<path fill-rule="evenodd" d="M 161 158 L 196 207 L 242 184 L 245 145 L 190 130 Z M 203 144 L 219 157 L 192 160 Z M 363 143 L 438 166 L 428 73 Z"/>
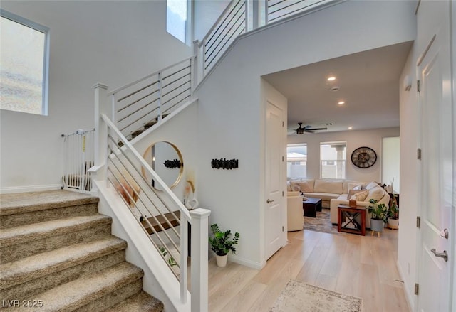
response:
<path fill-rule="evenodd" d="M 59 188 L 61 134 L 91 129 L 93 85 L 115 89 L 186 58 L 165 31 L 165 1 L 1 1 L 50 30 L 48 116 L 1 110 L 0 191 Z"/>

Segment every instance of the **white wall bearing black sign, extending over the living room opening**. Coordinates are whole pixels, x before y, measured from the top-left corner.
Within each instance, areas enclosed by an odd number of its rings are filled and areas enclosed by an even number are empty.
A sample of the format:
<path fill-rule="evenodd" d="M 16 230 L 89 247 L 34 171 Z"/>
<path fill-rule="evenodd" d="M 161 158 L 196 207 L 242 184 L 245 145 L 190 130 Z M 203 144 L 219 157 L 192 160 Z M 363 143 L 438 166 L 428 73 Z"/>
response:
<path fill-rule="evenodd" d="M 240 232 L 237 259 L 264 263 L 257 236 L 264 208 L 261 75 L 413 40 L 414 11 L 411 1 L 346 1 L 242 36 L 197 90 L 199 195 L 211 222 Z M 214 171 L 210 161 L 218 157 L 239 158 L 239 169 Z"/>

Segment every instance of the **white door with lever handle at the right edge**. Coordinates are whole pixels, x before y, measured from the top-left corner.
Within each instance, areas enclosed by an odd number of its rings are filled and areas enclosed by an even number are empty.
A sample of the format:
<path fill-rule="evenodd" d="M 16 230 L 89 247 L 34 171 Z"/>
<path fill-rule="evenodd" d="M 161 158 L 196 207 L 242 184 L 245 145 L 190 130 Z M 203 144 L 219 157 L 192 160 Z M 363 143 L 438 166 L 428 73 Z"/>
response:
<path fill-rule="evenodd" d="M 418 65 L 421 112 L 421 233 L 418 249 L 418 311 L 450 311 L 452 285 L 452 100 L 450 90 L 449 4 L 435 40 Z M 435 9 L 435 7 L 433 8 Z M 445 12 L 446 11 L 446 12 Z M 431 38 L 428 38 L 428 40 Z M 445 238 L 445 229 L 448 238 Z M 444 258 L 444 254 L 448 258 Z"/>

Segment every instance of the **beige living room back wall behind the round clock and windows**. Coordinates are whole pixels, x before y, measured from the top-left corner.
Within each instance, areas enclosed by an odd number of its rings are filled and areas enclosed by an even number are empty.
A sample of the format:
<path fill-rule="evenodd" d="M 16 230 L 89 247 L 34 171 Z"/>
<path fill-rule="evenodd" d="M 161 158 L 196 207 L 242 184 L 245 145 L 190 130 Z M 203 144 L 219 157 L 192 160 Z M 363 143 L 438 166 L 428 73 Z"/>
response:
<path fill-rule="evenodd" d="M 382 139 L 398 136 L 399 128 L 382 128 L 356 131 L 296 134 L 288 136 L 288 144 L 307 144 L 307 176 L 320 178 L 320 142 L 345 141 L 347 143 L 346 179 L 355 181 L 382 181 Z M 370 168 L 358 168 L 351 162 L 351 153 L 360 146 L 368 146 L 377 154 L 377 161 Z"/>

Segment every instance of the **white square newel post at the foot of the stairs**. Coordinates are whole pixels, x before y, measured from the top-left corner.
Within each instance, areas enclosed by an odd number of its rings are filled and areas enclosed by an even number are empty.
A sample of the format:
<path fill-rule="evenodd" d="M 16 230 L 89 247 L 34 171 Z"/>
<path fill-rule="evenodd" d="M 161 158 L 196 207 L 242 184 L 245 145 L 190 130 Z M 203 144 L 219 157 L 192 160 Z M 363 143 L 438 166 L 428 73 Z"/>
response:
<path fill-rule="evenodd" d="M 207 312 L 209 307 L 209 215 L 210 210 L 197 208 L 190 210 L 192 216 L 192 261 L 190 262 L 192 285 L 192 312 Z"/>

